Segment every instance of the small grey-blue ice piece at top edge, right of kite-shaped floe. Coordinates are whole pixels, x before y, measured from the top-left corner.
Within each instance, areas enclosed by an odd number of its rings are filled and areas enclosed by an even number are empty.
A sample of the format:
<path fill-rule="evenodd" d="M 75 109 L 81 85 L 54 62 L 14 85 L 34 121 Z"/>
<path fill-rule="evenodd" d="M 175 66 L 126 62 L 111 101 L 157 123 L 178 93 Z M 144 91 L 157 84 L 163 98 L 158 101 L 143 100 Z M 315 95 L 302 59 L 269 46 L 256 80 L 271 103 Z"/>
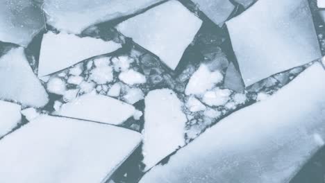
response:
<path fill-rule="evenodd" d="M 235 6 L 228 0 L 192 0 L 215 24 L 224 24 Z"/>

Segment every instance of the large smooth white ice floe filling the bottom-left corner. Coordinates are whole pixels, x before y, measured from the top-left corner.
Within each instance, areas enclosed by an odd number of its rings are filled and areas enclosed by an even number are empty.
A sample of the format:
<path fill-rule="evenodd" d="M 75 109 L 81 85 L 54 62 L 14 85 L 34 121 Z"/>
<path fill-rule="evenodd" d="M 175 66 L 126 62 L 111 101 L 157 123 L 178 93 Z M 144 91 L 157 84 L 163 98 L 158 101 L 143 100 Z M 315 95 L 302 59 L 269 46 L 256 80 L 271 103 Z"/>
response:
<path fill-rule="evenodd" d="M 140 141 L 125 128 L 42 115 L 0 141 L 1 182 L 106 182 Z"/>

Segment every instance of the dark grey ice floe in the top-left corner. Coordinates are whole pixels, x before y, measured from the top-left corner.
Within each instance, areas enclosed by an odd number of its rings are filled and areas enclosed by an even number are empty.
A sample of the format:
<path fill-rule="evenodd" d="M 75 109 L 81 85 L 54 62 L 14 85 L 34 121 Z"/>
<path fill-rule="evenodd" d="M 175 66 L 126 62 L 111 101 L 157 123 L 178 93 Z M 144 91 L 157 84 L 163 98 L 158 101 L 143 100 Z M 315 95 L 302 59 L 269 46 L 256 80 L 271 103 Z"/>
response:
<path fill-rule="evenodd" d="M 45 26 L 44 15 L 33 0 L 0 1 L 0 41 L 27 46 Z"/>

